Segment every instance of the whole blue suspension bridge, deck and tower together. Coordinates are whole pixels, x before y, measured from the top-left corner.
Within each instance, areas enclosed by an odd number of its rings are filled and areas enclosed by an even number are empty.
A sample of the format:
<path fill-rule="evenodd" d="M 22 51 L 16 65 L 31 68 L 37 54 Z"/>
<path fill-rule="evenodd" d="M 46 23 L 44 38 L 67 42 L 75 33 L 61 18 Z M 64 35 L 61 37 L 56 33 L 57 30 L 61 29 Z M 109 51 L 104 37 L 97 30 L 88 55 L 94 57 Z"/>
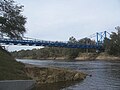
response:
<path fill-rule="evenodd" d="M 70 42 L 45 41 L 45 40 L 29 40 L 29 39 L 6 39 L 0 38 L 0 43 L 4 45 L 27 45 L 27 46 L 47 46 L 47 47 L 64 47 L 64 48 L 82 48 L 82 49 L 103 49 L 103 40 L 107 37 L 107 31 L 96 33 L 95 44 L 77 44 Z"/>

